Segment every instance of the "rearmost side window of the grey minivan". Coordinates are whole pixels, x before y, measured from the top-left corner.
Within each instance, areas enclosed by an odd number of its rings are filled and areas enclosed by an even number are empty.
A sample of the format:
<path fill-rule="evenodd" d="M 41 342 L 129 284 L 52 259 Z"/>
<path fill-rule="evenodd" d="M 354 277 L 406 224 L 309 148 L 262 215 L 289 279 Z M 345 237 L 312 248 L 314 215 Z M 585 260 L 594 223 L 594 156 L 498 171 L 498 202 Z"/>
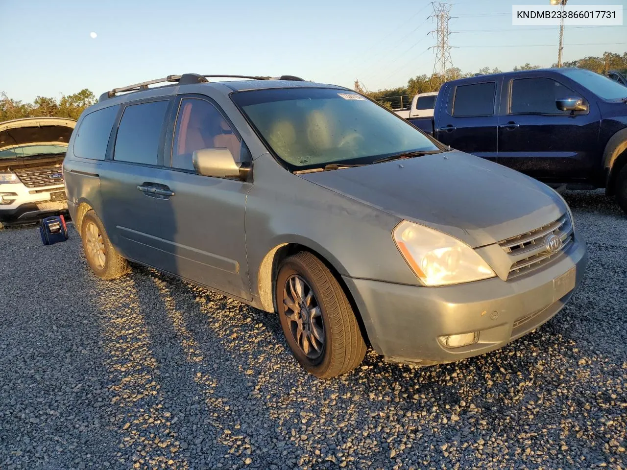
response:
<path fill-rule="evenodd" d="M 113 122 L 119 106 L 102 108 L 86 115 L 74 139 L 74 155 L 82 159 L 104 160 Z"/>

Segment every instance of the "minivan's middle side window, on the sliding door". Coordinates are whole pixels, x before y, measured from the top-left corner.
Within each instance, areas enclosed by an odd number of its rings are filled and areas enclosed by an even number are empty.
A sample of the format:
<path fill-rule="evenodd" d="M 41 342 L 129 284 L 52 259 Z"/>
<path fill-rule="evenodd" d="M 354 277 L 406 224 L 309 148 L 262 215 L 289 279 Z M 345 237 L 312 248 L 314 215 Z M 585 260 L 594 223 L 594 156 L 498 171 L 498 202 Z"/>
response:
<path fill-rule="evenodd" d="M 115 138 L 113 159 L 156 165 L 168 102 L 154 101 L 124 109 Z"/>

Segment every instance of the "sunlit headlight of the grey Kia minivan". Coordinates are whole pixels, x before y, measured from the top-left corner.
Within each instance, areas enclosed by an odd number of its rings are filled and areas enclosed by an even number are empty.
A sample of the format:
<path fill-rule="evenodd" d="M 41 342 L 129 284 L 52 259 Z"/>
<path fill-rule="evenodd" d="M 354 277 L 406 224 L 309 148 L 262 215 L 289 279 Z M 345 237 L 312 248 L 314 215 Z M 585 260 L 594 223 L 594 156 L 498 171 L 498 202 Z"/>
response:
<path fill-rule="evenodd" d="M 392 234 L 403 258 L 424 285 L 445 286 L 496 276 L 475 250 L 443 232 L 403 221 Z"/>

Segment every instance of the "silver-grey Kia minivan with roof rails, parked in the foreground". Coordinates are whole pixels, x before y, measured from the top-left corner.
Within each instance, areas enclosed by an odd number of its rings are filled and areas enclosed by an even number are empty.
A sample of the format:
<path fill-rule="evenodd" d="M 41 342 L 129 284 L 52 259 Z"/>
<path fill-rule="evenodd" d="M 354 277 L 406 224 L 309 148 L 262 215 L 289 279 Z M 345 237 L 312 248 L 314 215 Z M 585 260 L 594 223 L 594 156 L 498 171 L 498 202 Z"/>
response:
<path fill-rule="evenodd" d="M 213 77 L 118 88 L 78 120 L 63 174 L 100 278 L 134 261 L 276 312 L 298 362 L 329 378 L 367 345 L 418 365 L 502 347 L 584 275 L 548 186 L 347 88 Z"/>

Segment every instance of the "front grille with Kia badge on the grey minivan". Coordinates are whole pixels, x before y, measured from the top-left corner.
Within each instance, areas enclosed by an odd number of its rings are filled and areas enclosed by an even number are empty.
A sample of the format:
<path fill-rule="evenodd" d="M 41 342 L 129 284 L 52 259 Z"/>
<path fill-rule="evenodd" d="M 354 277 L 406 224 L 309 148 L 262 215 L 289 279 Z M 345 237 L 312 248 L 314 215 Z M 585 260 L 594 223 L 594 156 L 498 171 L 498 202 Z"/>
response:
<path fill-rule="evenodd" d="M 551 235 L 561 241 L 558 249 L 550 250 L 547 247 L 546 241 Z M 508 279 L 529 273 L 559 258 L 572 240 L 571 220 L 564 214 L 550 224 L 501 241 L 499 245 L 512 260 Z"/>

